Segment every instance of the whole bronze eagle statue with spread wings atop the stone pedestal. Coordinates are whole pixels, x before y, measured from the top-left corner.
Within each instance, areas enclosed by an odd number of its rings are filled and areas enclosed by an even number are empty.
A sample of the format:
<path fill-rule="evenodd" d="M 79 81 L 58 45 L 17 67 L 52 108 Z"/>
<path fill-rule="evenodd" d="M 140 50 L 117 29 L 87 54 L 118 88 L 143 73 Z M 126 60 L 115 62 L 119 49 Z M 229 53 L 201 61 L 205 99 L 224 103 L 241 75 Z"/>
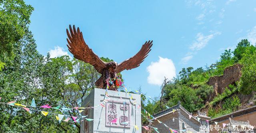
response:
<path fill-rule="evenodd" d="M 151 51 L 150 48 L 153 45 L 153 41 L 146 41 L 135 56 L 120 64 L 116 62 L 104 62 L 85 43 L 83 34 L 80 32 L 79 28 L 76 30 L 76 27 L 73 26 L 72 29 L 71 25 L 69 25 L 69 30 L 70 32 L 66 29 L 68 35 L 68 50 L 74 55 L 74 58 L 91 64 L 101 74 L 101 77 L 95 82 L 95 86 L 102 89 L 107 88 L 109 79 L 116 79 L 116 73 L 120 73 L 124 69 L 130 70 L 140 66 L 148 56 L 148 53 Z M 114 85 L 110 85 L 109 89 L 114 90 Z"/>

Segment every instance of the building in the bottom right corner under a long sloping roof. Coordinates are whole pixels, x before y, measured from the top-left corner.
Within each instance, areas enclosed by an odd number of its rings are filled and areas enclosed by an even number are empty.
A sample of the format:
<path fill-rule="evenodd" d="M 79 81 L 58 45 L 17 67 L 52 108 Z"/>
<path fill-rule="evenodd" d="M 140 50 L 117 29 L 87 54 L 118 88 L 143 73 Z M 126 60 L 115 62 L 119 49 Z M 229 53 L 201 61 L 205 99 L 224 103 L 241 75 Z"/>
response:
<path fill-rule="evenodd" d="M 228 133 L 256 133 L 256 106 L 235 111 L 210 121 L 210 133 L 218 133 L 220 130 Z M 214 128 L 216 124 L 213 121 L 218 122 L 217 125 L 221 127 L 219 131 Z M 224 128 L 222 123 L 226 124 Z"/>

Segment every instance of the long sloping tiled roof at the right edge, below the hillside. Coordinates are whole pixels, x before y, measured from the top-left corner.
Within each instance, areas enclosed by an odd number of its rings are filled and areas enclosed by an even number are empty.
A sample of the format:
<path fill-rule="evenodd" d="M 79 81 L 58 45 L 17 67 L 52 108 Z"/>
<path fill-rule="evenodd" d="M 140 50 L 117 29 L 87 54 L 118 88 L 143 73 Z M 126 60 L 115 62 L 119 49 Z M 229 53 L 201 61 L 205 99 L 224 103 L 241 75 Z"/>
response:
<path fill-rule="evenodd" d="M 235 117 L 239 117 L 239 116 L 242 116 L 242 115 L 247 115 L 247 114 L 250 114 L 250 113 L 256 113 L 256 106 L 249 107 L 247 109 L 242 109 L 242 110 L 239 110 L 239 111 L 227 114 L 227 115 L 223 115 L 221 117 L 211 119 L 211 121 L 222 122 L 222 121 L 228 120 L 229 118 L 235 118 Z"/>

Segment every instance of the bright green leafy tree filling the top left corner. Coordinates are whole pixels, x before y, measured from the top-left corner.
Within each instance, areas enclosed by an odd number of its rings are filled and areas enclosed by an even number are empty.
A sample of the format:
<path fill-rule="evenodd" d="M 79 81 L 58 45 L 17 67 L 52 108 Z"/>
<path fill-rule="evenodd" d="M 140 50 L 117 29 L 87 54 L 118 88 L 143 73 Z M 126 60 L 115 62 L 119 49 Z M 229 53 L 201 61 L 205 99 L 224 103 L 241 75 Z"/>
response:
<path fill-rule="evenodd" d="M 13 58 L 14 44 L 27 32 L 34 8 L 23 0 L 0 0 L 0 68 L 4 60 Z M 0 70 L 1 70 L 0 69 Z"/>

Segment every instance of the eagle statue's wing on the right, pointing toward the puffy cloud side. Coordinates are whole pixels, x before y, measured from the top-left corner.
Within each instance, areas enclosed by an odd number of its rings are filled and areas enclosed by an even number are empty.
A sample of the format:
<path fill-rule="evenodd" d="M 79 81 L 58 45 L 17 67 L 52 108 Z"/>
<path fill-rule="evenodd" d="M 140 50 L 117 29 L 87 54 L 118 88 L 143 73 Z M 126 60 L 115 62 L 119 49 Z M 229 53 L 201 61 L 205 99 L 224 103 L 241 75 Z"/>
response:
<path fill-rule="evenodd" d="M 145 42 L 145 44 L 142 45 L 140 51 L 135 56 L 118 64 L 118 66 L 116 68 L 116 73 L 119 73 L 119 72 L 123 71 L 124 69 L 130 70 L 130 69 L 140 66 L 140 64 L 148 56 L 148 53 L 151 51 L 150 48 L 153 45 L 152 42 L 153 41 L 150 42 L 150 40 L 148 42 Z"/>

